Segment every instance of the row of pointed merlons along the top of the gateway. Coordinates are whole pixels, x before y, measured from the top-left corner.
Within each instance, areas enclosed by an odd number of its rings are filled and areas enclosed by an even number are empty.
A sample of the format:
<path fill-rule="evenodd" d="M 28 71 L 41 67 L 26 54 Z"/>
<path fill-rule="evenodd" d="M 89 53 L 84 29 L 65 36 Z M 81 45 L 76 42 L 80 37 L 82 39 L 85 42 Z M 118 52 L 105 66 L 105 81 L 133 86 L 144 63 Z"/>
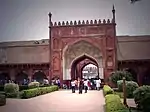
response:
<path fill-rule="evenodd" d="M 62 21 L 62 22 L 52 22 L 51 26 L 85 26 L 85 25 L 105 25 L 105 24 L 113 24 L 114 21 L 110 19 L 99 19 L 99 20 L 87 20 L 87 21 Z"/>

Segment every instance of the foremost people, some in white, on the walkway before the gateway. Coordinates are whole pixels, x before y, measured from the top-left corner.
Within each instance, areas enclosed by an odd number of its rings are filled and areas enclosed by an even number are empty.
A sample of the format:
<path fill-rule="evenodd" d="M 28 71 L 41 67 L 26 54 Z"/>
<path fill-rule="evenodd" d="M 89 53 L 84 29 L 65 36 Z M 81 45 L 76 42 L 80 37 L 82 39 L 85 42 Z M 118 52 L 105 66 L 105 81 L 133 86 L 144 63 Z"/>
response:
<path fill-rule="evenodd" d="M 96 89 L 100 90 L 101 80 L 100 78 L 97 78 L 95 80 L 96 82 Z M 79 90 L 79 94 L 82 94 L 82 91 L 84 90 L 85 93 L 87 93 L 87 90 L 90 89 L 90 81 L 88 79 L 80 79 L 78 80 L 72 80 L 71 81 L 71 89 L 72 93 L 75 93 L 76 90 Z"/>

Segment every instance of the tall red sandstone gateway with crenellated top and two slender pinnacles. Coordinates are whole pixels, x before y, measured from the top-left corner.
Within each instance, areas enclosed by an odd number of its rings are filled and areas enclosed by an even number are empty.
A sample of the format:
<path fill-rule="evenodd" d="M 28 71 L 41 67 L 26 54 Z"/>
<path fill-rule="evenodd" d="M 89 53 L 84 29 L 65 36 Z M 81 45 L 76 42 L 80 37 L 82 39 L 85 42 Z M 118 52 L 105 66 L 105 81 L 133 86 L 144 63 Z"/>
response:
<path fill-rule="evenodd" d="M 61 81 L 82 77 L 89 63 L 98 67 L 100 78 L 116 70 L 115 10 L 112 20 L 52 23 L 50 19 L 50 76 Z M 84 63 L 83 63 L 84 62 Z"/>

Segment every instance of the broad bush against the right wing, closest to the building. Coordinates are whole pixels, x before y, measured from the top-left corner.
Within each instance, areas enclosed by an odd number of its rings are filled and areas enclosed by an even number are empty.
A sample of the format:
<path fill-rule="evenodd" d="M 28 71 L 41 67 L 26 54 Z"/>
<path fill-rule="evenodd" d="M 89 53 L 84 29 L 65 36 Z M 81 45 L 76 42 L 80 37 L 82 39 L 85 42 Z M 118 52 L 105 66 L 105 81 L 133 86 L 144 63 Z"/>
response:
<path fill-rule="evenodd" d="M 111 74 L 110 80 L 114 83 L 117 84 L 117 81 L 122 80 L 123 77 L 126 78 L 126 81 L 131 81 L 132 80 L 132 74 L 127 72 L 127 71 L 116 71 Z"/>

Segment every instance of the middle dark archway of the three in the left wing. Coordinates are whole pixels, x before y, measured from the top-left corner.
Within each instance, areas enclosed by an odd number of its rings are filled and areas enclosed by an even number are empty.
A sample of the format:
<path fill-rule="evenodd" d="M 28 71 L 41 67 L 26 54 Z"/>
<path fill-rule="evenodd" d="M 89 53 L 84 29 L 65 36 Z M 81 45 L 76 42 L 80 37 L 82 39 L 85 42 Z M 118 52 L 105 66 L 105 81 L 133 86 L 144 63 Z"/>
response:
<path fill-rule="evenodd" d="M 16 75 L 16 83 L 19 85 L 25 84 L 24 81 L 28 81 L 28 74 L 25 71 L 21 71 Z"/>

